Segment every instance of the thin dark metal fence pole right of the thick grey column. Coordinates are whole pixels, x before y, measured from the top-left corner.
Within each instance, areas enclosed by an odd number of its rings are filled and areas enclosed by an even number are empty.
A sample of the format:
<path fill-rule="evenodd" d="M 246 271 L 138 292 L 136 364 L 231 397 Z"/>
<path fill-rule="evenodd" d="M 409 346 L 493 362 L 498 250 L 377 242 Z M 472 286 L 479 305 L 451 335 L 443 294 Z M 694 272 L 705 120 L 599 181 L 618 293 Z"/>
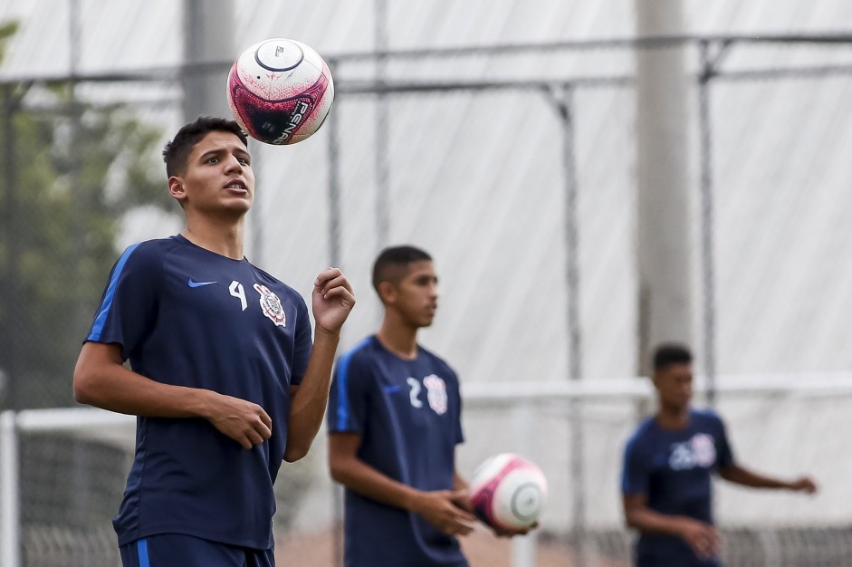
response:
<path fill-rule="evenodd" d="M 698 128 L 701 139 L 701 271 L 704 286 L 704 375 L 707 380 L 707 403 L 716 401 L 716 303 L 713 272 L 713 135 L 710 125 L 710 81 L 713 63 L 710 44 L 699 44 L 701 77 L 698 83 Z"/>

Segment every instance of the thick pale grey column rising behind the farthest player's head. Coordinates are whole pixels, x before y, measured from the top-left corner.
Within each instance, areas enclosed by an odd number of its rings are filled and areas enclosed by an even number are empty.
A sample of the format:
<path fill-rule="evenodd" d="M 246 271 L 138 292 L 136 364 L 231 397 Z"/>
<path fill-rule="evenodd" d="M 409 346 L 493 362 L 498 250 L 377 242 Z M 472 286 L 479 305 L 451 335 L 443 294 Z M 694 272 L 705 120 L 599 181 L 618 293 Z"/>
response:
<path fill-rule="evenodd" d="M 634 4 L 638 37 L 683 30 L 680 0 Z M 635 54 L 637 375 L 650 376 L 657 344 L 692 338 L 688 83 L 683 44 Z"/>

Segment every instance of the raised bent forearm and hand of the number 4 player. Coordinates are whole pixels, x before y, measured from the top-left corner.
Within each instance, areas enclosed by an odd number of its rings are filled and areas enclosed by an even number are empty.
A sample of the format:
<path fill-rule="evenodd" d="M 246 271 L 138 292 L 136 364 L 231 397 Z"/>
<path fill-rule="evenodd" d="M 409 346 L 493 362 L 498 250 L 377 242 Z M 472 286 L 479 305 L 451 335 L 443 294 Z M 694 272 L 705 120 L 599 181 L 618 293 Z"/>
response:
<path fill-rule="evenodd" d="M 292 463 L 308 454 L 329 403 L 331 367 L 340 342 L 340 329 L 355 306 L 349 280 L 338 268 L 317 276 L 311 293 L 316 322 L 311 358 L 298 387 L 291 388 L 290 422 L 284 460 Z"/>

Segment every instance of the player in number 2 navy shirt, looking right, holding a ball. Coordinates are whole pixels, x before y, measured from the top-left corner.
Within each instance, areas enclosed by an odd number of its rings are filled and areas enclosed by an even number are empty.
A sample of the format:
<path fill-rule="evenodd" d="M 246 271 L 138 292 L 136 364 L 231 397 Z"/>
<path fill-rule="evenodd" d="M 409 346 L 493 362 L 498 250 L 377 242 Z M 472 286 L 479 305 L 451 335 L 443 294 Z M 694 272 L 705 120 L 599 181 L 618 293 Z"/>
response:
<path fill-rule="evenodd" d="M 413 246 L 373 264 L 378 332 L 340 357 L 328 411 L 331 476 L 346 487 L 347 567 L 467 565 L 455 536 L 475 522 L 455 470 L 464 440 L 458 380 L 417 344 L 432 324 L 438 278 Z"/>

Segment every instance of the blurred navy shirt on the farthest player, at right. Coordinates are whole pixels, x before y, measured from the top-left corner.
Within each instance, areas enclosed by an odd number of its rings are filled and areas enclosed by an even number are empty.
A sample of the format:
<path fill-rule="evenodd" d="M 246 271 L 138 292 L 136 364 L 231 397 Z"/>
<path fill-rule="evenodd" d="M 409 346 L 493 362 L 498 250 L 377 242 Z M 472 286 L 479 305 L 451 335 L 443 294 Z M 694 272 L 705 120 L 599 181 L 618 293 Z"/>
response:
<path fill-rule="evenodd" d="M 734 463 L 721 418 L 712 410 L 690 411 L 686 428 L 661 428 L 656 418 L 643 421 L 627 441 L 621 492 L 646 495 L 660 514 L 684 515 L 713 524 L 713 472 Z M 709 567 L 717 558 L 699 560 L 680 537 L 642 533 L 637 567 Z"/>

